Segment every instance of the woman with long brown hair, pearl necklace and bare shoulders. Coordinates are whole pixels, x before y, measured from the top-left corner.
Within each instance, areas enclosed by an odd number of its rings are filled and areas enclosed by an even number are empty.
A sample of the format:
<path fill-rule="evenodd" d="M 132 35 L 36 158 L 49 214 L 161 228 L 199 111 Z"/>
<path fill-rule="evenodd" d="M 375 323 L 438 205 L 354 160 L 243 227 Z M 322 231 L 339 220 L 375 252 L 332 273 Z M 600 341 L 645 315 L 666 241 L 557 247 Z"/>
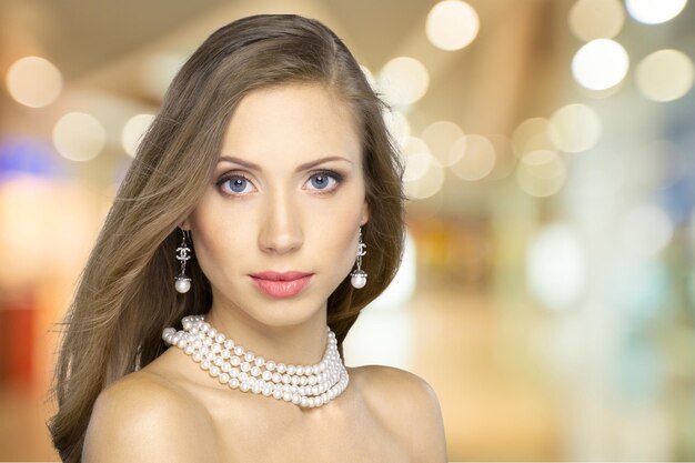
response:
<path fill-rule="evenodd" d="M 66 322 L 64 462 L 446 461 L 424 380 L 342 363 L 403 251 L 383 109 L 315 20 L 244 18 L 192 54 Z"/>

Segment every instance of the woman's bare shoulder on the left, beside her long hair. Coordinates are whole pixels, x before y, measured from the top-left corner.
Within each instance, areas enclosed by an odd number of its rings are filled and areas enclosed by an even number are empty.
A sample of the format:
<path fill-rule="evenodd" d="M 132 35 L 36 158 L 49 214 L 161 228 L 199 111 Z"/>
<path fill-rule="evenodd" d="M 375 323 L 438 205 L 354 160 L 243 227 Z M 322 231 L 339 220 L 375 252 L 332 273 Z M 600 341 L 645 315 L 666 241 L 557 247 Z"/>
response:
<path fill-rule="evenodd" d="M 215 462 L 211 430 L 182 391 L 155 374 L 134 372 L 97 397 L 82 462 Z"/>

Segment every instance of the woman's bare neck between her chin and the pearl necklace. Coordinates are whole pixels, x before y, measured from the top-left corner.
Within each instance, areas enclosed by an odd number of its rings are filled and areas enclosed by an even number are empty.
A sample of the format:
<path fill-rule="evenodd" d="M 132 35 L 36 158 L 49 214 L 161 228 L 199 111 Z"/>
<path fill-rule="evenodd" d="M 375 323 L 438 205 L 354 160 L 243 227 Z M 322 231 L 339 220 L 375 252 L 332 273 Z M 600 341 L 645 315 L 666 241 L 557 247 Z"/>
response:
<path fill-rule="evenodd" d="M 228 339 L 266 361 L 294 365 L 319 363 L 326 349 L 325 302 L 315 316 L 290 326 L 272 326 L 242 310 L 212 303 L 205 321 Z"/>

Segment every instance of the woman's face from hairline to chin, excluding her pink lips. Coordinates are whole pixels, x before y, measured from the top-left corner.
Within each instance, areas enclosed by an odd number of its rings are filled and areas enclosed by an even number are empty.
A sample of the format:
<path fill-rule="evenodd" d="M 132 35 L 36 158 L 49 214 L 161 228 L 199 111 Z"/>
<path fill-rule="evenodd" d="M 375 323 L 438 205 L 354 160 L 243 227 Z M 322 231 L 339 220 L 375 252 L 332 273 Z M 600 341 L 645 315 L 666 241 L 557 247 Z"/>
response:
<path fill-rule="evenodd" d="M 359 228 L 367 221 L 353 125 L 346 107 L 318 84 L 262 89 L 242 99 L 214 178 L 183 223 L 214 305 L 274 326 L 325 310 L 354 266 Z M 279 296 L 251 276 L 264 271 L 313 275 L 298 294 Z"/>

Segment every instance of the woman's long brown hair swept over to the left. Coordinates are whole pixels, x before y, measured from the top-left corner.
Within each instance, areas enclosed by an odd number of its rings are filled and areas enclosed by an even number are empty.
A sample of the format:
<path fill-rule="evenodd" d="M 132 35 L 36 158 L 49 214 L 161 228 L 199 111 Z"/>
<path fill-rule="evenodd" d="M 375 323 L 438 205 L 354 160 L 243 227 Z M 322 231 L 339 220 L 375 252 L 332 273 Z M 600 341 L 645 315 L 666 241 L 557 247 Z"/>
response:
<path fill-rule="evenodd" d="M 161 333 L 208 312 L 210 282 L 189 261 L 192 289 L 173 290 L 178 224 L 194 209 L 218 161 L 230 118 L 249 92 L 319 83 L 344 102 L 361 129 L 369 222 L 363 225 L 369 284 L 350 276 L 328 300 L 340 352 L 360 311 L 389 285 L 403 254 L 403 165 L 384 124 L 386 103 L 345 44 L 321 22 L 259 14 L 212 33 L 172 81 L 122 181 L 62 324 L 49 420 L 64 462 L 81 460 L 99 393 L 167 350 Z"/>

